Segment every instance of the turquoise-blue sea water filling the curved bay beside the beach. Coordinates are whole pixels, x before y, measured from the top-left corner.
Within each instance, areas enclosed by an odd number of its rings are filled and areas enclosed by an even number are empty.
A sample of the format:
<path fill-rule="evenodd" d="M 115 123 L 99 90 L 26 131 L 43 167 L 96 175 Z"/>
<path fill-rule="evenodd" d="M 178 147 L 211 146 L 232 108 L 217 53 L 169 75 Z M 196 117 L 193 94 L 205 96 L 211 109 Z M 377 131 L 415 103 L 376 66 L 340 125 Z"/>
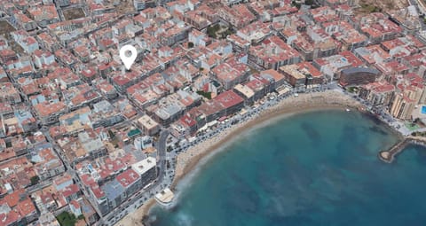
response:
<path fill-rule="evenodd" d="M 253 129 L 201 167 L 154 226 L 426 225 L 426 150 L 362 113 L 304 113 Z M 182 184 L 181 184 L 182 185 Z"/>

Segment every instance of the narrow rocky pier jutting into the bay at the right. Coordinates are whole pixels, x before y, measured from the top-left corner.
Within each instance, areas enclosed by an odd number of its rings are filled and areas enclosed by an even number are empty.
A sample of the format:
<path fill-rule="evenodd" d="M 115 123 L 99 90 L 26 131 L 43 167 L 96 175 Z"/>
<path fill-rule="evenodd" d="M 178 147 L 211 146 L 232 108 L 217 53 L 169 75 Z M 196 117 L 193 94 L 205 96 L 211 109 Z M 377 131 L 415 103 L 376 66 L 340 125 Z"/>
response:
<path fill-rule="evenodd" d="M 419 144 L 422 146 L 426 146 L 426 138 L 418 136 L 407 136 L 402 141 L 391 146 L 389 150 L 379 152 L 379 159 L 387 163 L 393 162 L 398 153 L 402 152 L 408 144 Z"/>

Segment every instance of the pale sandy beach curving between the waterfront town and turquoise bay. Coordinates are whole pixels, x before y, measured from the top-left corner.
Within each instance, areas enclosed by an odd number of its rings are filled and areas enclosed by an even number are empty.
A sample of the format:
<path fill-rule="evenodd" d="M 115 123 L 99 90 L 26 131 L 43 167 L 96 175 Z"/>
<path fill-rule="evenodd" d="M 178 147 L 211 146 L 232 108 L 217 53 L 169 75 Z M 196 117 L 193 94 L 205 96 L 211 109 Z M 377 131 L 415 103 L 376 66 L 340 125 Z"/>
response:
<path fill-rule="evenodd" d="M 171 185 L 173 190 L 177 183 L 189 172 L 193 170 L 204 157 L 211 155 L 221 146 L 229 143 L 236 136 L 241 135 L 247 129 L 251 129 L 264 121 L 270 121 L 278 117 L 283 117 L 292 113 L 302 113 L 321 109 L 345 109 L 362 107 L 359 102 L 342 92 L 327 90 L 318 93 L 299 94 L 298 97 L 288 97 L 280 101 L 278 105 L 271 106 L 256 117 L 225 129 L 217 136 L 213 136 L 200 144 L 190 147 L 187 151 L 179 153 L 177 156 L 176 174 Z M 137 211 L 126 215 L 122 221 L 116 225 L 143 225 L 141 219 L 148 214 L 149 209 L 155 204 L 154 199 L 150 199 Z"/>

